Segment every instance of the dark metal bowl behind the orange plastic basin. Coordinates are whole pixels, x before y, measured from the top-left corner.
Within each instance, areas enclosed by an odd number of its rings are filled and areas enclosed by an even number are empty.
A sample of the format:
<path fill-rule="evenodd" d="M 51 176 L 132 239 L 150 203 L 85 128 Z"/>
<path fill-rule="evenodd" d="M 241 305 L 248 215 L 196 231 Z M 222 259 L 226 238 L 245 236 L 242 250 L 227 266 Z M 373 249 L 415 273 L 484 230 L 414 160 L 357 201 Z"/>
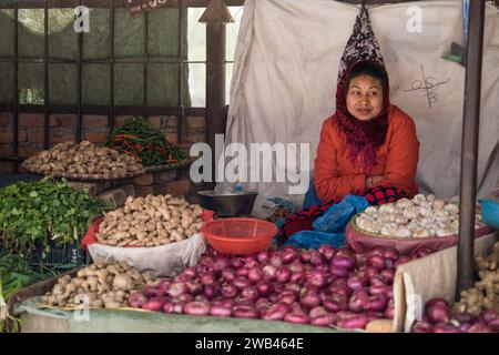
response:
<path fill-rule="evenodd" d="M 202 190 L 196 192 L 200 204 L 205 210 L 211 210 L 220 217 L 248 216 L 252 213 L 257 192 L 234 191 L 215 192 L 214 190 Z"/>

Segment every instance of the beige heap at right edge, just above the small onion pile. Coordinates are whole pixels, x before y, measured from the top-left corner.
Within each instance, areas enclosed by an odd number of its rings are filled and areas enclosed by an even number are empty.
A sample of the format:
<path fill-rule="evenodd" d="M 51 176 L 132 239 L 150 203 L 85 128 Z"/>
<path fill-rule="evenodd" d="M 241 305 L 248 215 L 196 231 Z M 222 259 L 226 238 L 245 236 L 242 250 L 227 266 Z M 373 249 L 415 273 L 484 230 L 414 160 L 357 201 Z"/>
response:
<path fill-rule="evenodd" d="M 499 242 L 493 245 L 493 252 L 487 257 L 477 256 L 476 265 L 480 281 L 473 288 L 462 291 L 461 300 L 455 303 L 458 312 L 479 315 L 481 311 L 495 308 L 499 312 Z"/>

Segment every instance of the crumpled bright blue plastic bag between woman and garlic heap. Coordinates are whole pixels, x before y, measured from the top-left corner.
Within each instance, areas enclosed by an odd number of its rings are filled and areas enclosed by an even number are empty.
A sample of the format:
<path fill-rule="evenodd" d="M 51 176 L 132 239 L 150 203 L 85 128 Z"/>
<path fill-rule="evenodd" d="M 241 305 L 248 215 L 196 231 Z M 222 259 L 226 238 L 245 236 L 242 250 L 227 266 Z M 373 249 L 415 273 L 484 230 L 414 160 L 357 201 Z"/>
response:
<path fill-rule="evenodd" d="M 354 215 L 367 209 L 369 203 L 363 196 L 347 195 L 339 203 L 332 205 L 312 226 L 314 231 L 325 233 L 344 233 Z"/>

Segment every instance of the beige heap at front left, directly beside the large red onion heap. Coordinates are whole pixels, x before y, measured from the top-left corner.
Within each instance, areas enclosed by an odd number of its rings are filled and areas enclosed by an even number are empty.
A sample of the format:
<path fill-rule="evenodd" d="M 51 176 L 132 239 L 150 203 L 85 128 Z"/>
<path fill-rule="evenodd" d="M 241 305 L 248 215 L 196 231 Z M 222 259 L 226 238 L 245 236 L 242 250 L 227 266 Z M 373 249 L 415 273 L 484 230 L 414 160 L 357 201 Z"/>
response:
<path fill-rule="evenodd" d="M 157 283 L 151 275 L 140 273 L 125 262 L 98 262 L 78 272 L 77 277 L 60 277 L 42 302 L 49 306 L 91 308 L 128 306 L 131 292 Z"/>

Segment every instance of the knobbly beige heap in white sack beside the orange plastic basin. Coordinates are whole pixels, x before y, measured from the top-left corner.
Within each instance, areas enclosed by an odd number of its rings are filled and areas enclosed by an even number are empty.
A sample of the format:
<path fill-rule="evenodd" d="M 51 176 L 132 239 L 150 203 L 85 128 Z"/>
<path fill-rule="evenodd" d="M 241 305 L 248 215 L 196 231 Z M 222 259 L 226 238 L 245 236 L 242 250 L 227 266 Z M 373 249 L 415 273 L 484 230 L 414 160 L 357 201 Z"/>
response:
<path fill-rule="evenodd" d="M 99 225 L 99 243 L 124 246 L 159 246 L 198 233 L 203 210 L 184 199 L 149 194 L 126 197 L 123 207 L 109 212 Z"/>

